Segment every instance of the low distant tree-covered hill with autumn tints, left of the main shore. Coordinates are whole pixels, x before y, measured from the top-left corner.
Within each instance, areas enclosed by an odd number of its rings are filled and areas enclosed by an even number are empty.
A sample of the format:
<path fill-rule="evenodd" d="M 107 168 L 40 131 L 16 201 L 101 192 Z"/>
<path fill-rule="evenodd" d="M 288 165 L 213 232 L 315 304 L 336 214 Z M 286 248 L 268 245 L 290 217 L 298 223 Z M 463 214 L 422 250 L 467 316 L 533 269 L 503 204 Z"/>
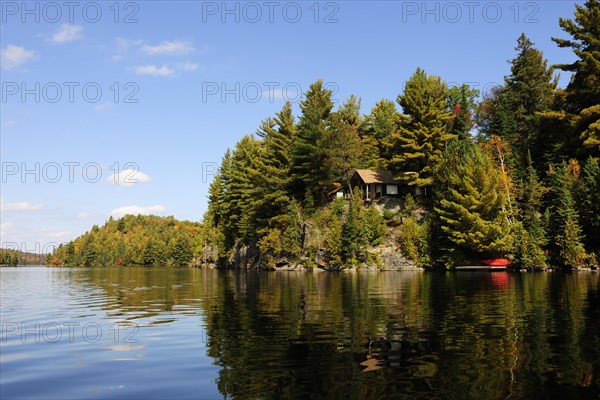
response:
<path fill-rule="evenodd" d="M 202 241 L 202 226 L 173 217 L 126 215 L 94 226 L 49 257 L 64 266 L 187 266 Z"/>

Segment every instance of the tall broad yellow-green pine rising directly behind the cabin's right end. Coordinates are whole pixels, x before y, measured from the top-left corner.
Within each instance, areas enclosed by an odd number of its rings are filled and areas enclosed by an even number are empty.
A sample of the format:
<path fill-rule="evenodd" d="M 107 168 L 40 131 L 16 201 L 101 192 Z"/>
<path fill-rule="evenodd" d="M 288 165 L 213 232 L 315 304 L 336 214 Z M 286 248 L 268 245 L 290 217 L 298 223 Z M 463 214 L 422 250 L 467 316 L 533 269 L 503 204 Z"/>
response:
<path fill-rule="evenodd" d="M 394 156 L 390 166 L 416 174 L 409 184 L 431 186 L 433 172 L 442 159 L 448 140 L 451 114 L 446 106 L 447 88 L 441 78 L 427 76 L 418 68 L 408 80 L 398 104 L 404 115 L 394 132 Z"/>

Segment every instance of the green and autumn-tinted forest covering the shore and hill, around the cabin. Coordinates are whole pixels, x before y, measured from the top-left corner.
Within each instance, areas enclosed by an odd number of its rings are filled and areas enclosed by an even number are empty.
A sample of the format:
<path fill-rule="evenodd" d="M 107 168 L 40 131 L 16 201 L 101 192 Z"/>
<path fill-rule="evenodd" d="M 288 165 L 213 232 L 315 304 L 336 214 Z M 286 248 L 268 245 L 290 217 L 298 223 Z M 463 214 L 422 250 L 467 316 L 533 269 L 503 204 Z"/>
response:
<path fill-rule="evenodd" d="M 126 216 L 94 227 L 53 265 L 275 268 L 382 266 L 395 244 L 422 268 L 505 257 L 524 269 L 595 267 L 600 255 L 600 3 L 561 18 L 575 61 L 552 65 L 522 34 L 504 83 L 480 96 L 417 69 L 396 101 L 368 113 L 313 83 L 222 158 L 203 222 Z M 565 58 L 568 54 L 565 53 Z M 558 87 L 559 72 L 570 75 Z M 365 204 L 357 169 L 404 173 L 420 188 L 398 212 Z M 348 199 L 328 194 L 348 188 Z M 127 228 L 124 228 L 124 227 Z"/>

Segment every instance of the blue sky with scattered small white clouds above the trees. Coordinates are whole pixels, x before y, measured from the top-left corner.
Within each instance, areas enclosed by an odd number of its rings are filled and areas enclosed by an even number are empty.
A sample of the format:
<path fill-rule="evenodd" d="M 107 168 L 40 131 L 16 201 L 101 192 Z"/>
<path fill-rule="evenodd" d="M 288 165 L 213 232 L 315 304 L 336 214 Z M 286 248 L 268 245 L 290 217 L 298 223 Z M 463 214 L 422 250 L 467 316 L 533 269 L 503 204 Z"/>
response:
<path fill-rule="evenodd" d="M 501 83 L 550 63 L 570 1 L 2 1 L 1 242 L 40 251 L 110 215 L 201 220 L 215 165 L 323 79 L 368 113 L 417 67 Z M 561 76 L 564 86 L 568 76 Z M 116 174 L 116 175 L 115 175 Z"/>

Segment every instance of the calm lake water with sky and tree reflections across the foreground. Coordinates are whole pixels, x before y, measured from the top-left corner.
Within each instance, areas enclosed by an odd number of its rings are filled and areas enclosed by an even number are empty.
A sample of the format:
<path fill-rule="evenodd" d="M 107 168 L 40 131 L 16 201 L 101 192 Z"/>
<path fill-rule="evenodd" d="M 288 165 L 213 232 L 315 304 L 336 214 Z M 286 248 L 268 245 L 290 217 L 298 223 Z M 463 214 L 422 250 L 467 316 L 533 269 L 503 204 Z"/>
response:
<path fill-rule="evenodd" d="M 2 399 L 600 398 L 600 274 L 0 268 Z"/>

